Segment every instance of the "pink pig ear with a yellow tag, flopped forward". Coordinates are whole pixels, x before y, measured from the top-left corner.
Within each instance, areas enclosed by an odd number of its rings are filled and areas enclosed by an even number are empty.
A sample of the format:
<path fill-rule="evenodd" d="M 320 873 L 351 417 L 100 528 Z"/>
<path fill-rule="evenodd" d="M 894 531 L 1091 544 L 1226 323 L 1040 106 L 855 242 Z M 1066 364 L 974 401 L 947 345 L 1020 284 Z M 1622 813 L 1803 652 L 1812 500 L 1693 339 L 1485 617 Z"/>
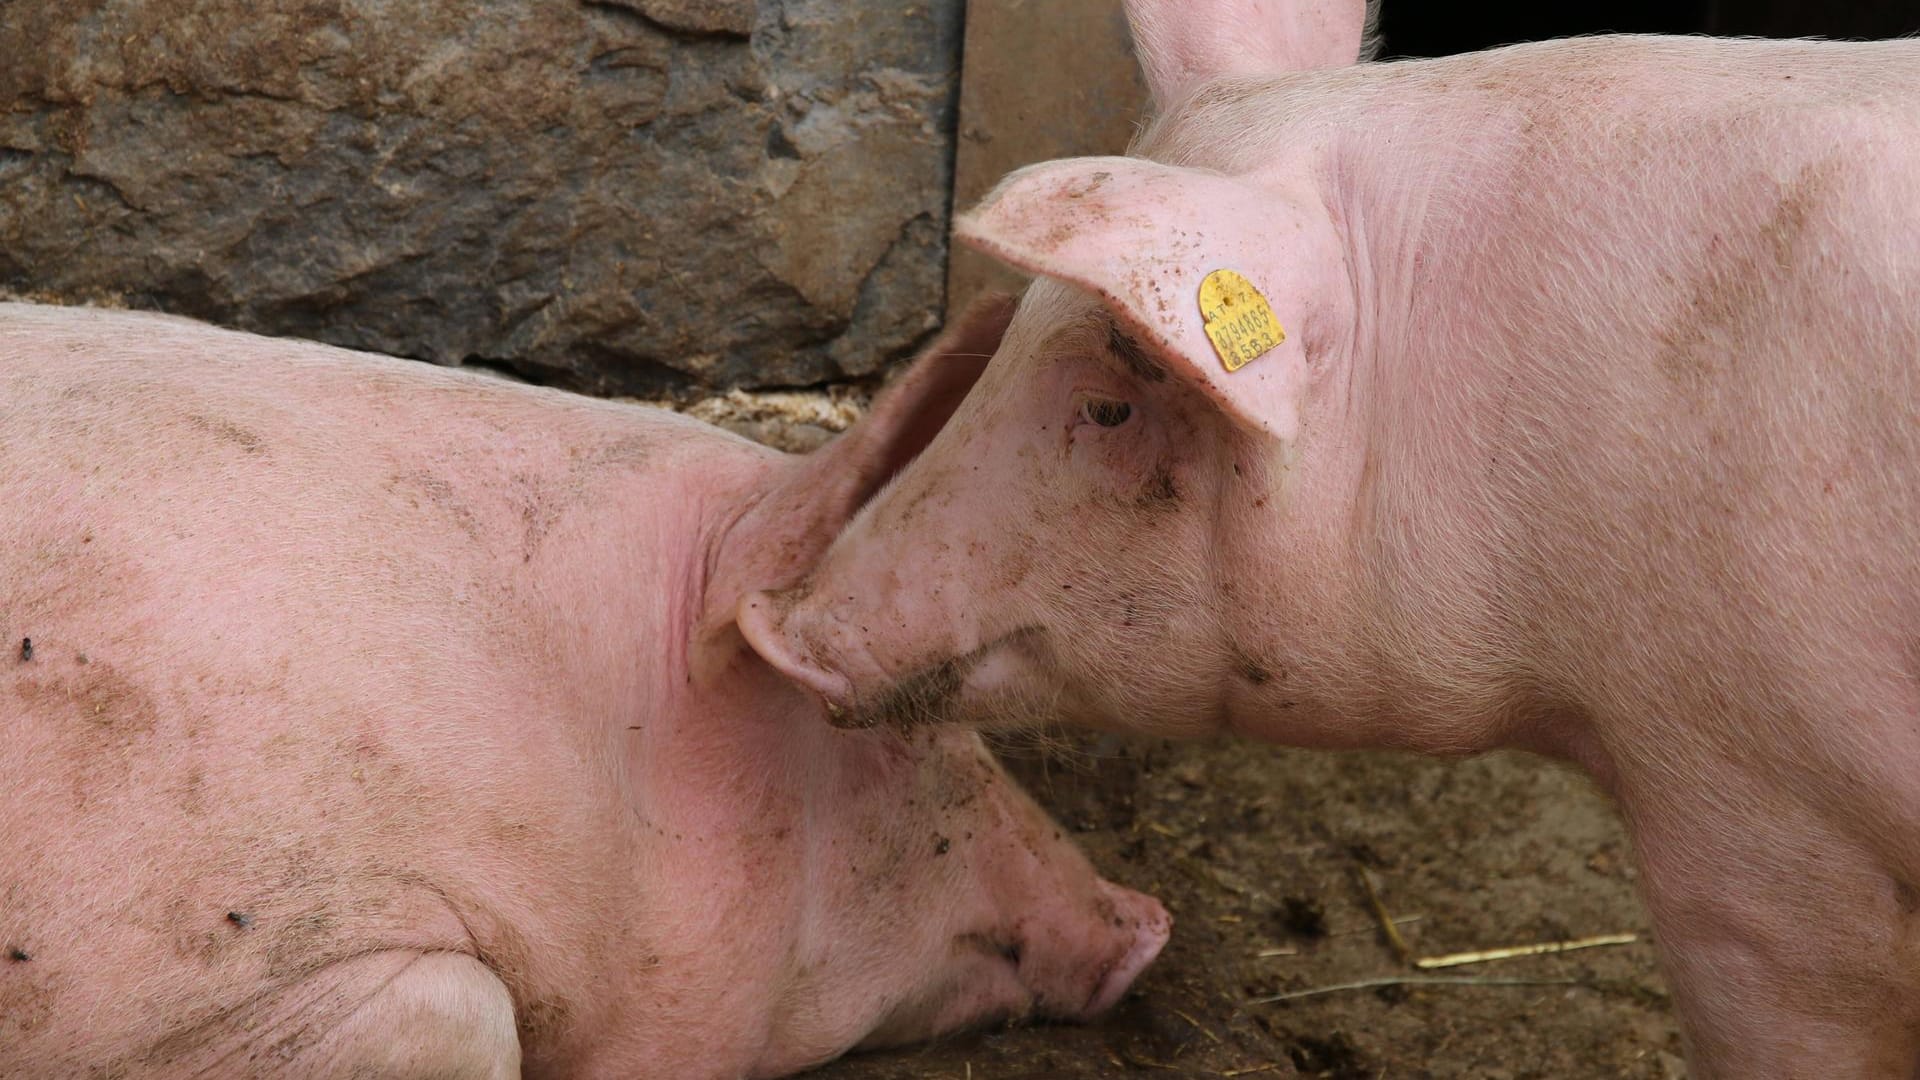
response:
<path fill-rule="evenodd" d="M 960 240 L 1096 294 L 1244 425 L 1294 438 L 1313 361 L 1350 332 L 1346 256 L 1304 167 L 1250 181 L 1139 158 L 1010 175 Z"/>

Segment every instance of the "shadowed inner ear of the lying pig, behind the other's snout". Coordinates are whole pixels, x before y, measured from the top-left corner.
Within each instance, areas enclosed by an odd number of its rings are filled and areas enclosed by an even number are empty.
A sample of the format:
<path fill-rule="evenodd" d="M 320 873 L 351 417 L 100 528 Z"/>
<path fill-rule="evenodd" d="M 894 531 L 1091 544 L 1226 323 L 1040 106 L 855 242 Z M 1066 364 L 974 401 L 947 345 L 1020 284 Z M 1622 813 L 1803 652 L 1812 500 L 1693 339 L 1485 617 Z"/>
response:
<path fill-rule="evenodd" d="M 806 502 L 806 517 L 816 523 L 810 534 L 822 550 L 947 427 L 1000 350 L 1014 307 L 1016 300 L 1004 292 L 968 304 L 912 367 L 879 392 L 856 425 L 806 457 L 789 486 Z"/>

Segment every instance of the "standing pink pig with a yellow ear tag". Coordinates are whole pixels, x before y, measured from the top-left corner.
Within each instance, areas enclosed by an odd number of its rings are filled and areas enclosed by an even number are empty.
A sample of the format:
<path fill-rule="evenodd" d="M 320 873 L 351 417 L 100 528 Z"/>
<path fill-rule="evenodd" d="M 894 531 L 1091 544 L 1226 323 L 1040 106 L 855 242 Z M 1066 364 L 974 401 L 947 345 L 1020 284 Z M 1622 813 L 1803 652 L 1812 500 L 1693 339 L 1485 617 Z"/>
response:
<path fill-rule="evenodd" d="M 1129 158 L 755 648 L 847 723 L 1046 713 L 1588 769 L 1695 1076 L 1920 1067 L 1920 40 L 1430 61 L 1135 4 Z"/>

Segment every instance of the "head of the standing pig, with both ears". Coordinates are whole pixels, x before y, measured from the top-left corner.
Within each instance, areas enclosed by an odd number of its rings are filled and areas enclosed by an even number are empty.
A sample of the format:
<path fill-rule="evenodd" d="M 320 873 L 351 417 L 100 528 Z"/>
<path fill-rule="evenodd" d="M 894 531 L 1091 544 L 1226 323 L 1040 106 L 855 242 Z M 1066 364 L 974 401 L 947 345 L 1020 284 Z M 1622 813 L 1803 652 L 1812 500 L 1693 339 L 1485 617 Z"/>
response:
<path fill-rule="evenodd" d="M 1213 94 L 1208 79 L 1352 61 L 1361 44 L 1359 4 L 1313 10 L 1311 33 L 1298 27 L 1309 6 L 1238 8 L 1129 8 L 1162 106 Z M 1165 129 L 1146 146 L 1167 144 Z M 1319 513 L 1352 457 L 1344 369 L 1363 315 L 1323 154 L 1304 138 L 1240 175 L 1052 161 L 964 215 L 958 238 L 1043 277 L 950 423 L 818 573 L 747 598 L 741 626 L 762 655 L 854 726 L 1066 719 L 1198 734 L 1261 700 L 1294 709 L 1300 742 L 1390 736 L 1315 717 L 1304 665 L 1273 640 L 1325 644 L 1315 613 L 1356 601 L 1340 523 Z M 1236 371 L 1194 304 L 1215 269 L 1258 282 L 1244 317 L 1227 296 L 1221 327 L 1271 323 Z"/>

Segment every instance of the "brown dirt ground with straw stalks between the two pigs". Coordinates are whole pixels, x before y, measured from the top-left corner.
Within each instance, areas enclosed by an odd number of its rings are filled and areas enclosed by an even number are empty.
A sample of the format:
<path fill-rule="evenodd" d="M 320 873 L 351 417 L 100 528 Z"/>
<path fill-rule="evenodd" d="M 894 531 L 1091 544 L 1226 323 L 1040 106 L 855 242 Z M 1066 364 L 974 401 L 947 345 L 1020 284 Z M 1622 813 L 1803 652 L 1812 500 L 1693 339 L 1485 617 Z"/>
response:
<path fill-rule="evenodd" d="M 960 1036 L 816 1076 L 1686 1074 L 1626 840 L 1567 769 L 1114 736 L 1002 757 L 1102 872 L 1167 905 L 1173 940 L 1098 1024 Z M 1640 942 L 1417 972 L 1388 945 L 1361 872 L 1415 957 L 1617 932 Z M 1260 1001 L 1390 976 L 1526 984 Z"/>

